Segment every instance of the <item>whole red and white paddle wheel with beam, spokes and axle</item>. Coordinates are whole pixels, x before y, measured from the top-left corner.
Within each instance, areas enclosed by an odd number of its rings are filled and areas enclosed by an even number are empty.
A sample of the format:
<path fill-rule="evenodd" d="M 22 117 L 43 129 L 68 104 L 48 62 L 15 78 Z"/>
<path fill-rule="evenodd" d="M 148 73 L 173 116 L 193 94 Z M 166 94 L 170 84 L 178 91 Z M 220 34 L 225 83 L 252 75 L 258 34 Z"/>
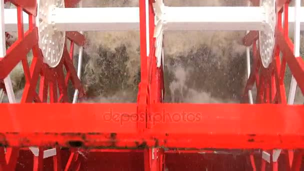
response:
<path fill-rule="evenodd" d="M 16 9 L 4 9 L 6 1 Z M 293 105 L 296 86 L 304 92 L 300 0 L 294 7 L 289 0 L 251 0 L 252 6 L 238 7 L 139 0 L 139 8 L 81 8 L 79 0 L 4 2 L 0 100 L 7 95 L 9 103 L 0 104 L 0 170 L 300 170 L 304 106 Z M 78 31 L 95 30 L 139 30 L 136 103 L 76 103 L 85 93 L 82 47 L 76 70 L 74 45 L 85 41 Z M 244 103 L 163 103 L 164 30 L 248 30 Z M 17 31 L 17 40 L 8 42 L 7 31 Z M 25 85 L 16 103 L 9 73 L 19 62 Z M 286 66 L 292 73 L 288 96 Z"/>

